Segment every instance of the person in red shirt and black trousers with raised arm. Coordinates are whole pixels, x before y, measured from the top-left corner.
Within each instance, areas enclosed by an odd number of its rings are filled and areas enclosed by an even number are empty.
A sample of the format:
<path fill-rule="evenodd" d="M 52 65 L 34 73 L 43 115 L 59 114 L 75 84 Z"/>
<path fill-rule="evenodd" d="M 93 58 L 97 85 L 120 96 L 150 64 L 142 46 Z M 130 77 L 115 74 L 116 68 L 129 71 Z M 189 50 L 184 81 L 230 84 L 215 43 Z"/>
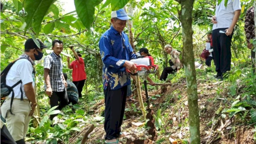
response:
<path fill-rule="evenodd" d="M 71 64 L 70 64 L 69 63 L 69 57 L 67 57 L 68 68 L 73 69 L 73 71 L 72 71 L 73 83 L 76 85 L 76 88 L 78 90 L 79 98 L 82 98 L 81 92 L 83 90 L 84 82 L 86 80 L 84 60 L 81 57 L 80 53 L 75 52 L 73 47 L 74 46 L 70 46 L 69 48 L 72 50 L 76 60 L 72 61 Z"/>

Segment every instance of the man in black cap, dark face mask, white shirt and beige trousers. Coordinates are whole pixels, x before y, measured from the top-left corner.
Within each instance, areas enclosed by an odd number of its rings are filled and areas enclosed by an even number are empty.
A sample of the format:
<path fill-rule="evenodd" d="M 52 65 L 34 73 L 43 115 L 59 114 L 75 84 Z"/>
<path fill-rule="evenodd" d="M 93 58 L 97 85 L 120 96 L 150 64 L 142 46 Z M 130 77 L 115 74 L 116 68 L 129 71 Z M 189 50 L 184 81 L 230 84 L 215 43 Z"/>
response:
<path fill-rule="evenodd" d="M 12 65 L 6 76 L 6 85 L 14 85 L 21 80 L 21 83 L 13 88 L 12 105 L 11 92 L 1 106 L 1 114 L 17 144 L 25 144 L 30 116 L 33 115 L 37 104 L 33 66 L 35 60 L 42 59 L 42 50 L 47 48 L 40 40 L 37 39 L 37 41 L 40 47 L 37 47 L 32 38 L 26 41 L 24 54 Z"/>

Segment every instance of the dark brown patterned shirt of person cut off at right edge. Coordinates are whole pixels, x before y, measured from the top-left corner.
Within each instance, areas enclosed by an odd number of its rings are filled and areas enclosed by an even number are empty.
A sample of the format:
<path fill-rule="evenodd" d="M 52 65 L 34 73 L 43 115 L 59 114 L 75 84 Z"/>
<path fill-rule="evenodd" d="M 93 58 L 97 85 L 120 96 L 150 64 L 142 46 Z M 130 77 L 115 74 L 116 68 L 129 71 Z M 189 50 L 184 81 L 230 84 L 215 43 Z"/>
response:
<path fill-rule="evenodd" d="M 252 6 L 246 11 L 246 16 L 244 20 L 244 31 L 247 43 L 250 43 L 250 40 L 255 38 L 254 30 L 254 8 Z"/>

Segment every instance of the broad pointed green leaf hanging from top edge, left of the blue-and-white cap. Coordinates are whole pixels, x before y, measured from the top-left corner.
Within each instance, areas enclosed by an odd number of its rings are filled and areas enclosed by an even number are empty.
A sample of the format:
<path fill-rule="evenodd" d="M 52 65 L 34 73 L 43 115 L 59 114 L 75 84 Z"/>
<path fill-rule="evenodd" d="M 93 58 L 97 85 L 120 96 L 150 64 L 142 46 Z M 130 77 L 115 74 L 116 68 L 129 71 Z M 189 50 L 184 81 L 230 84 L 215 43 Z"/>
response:
<path fill-rule="evenodd" d="M 102 0 L 74 0 L 76 13 L 83 25 L 90 30 L 94 20 L 95 6 L 100 4 Z"/>

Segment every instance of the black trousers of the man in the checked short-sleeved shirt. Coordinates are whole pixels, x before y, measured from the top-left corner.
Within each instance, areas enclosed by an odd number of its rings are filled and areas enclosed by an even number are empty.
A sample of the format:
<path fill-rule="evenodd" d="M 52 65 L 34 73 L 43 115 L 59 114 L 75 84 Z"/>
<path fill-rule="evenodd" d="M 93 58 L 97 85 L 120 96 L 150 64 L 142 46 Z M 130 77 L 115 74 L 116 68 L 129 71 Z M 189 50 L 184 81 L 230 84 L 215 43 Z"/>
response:
<path fill-rule="evenodd" d="M 52 92 L 52 96 L 50 98 L 50 105 L 51 108 L 58 106 L 56 109 L 61 110 L 64 108 L 66 105 L 68 105 L 68 94 L 67 91 L 64 90 L 63 92 Z M 59 103 L 60 101 L 60 103 Z M 50 119 L 52 120 L 56 115 L 51 115 Z"/>

